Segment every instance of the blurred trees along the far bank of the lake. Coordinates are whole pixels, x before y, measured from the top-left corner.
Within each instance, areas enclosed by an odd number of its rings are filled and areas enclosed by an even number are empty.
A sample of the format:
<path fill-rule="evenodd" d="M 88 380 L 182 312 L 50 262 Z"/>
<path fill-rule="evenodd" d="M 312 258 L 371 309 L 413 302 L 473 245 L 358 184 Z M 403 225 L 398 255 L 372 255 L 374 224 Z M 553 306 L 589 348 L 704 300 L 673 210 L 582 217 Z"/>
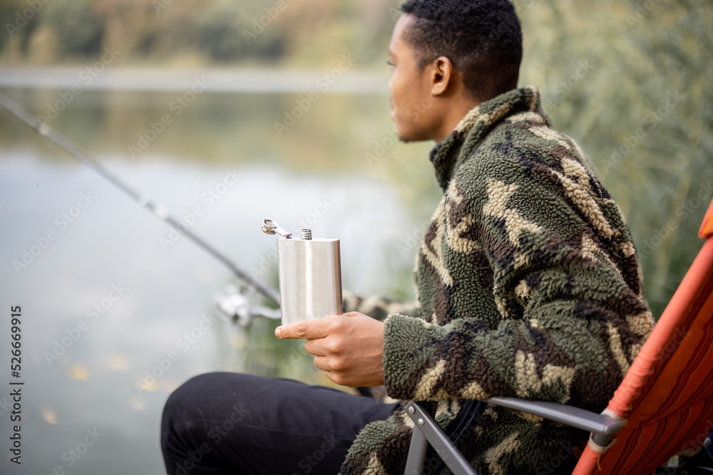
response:
<path fill-rule="evenodd" d="M 386 12 L 390 1 L 371 0 L 371 4 L 383 6 L 376 11 Z M 100 56 L 103 46 L 118 42 L 123 58 L 180 58 L 198 51 L 208 63 L 274 63 L 293 58 L 326 63 L 335 43 L 344 51 L 364 51 L 367 56 L 374 46 L 384 50 L 393 25 L 391 14 L 374 14 L 356 0 L 336 5 L 331 0 L 157 4 L 149 0 L 53 0 L 42 5 L 36 19 L 53 28 L 58 60 Z M 0 17 L 11 19 L 24 8 L 25 2 L 3 2 Z M 112 34 L 107 35 L 110 30 Z M 32 26 L 23 28 L 21 55 L 30 56 L 26 46 L 34 33 Z M 9 46 L 6 40 L 0 37 L 0 52 Z"/>

